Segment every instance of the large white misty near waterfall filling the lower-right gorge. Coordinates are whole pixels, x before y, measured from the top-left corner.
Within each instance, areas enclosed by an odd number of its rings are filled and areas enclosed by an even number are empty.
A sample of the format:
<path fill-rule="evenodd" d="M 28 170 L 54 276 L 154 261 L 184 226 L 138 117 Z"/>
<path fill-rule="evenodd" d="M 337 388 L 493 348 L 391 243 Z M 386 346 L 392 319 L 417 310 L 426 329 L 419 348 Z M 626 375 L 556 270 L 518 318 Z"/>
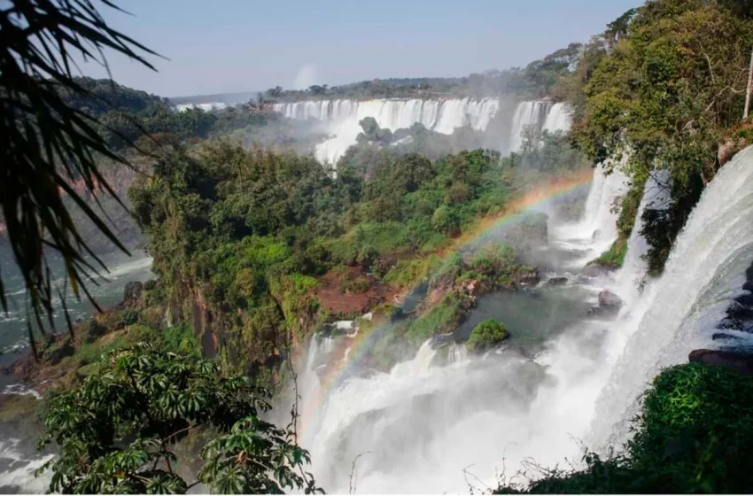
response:
<path fill-rule="evenodd" d="M 625 177 L 600 170 L 578 229 L 609 238 L 613 234 L 603 231 L 614 217 L 608 222 L 600 212 L 624 191 Z M 655 188 L 651 180 L 646 192 Z M 649 195 L 641 207 L 661 207 L 665 199 Z M 557 239 L 571 229 L 551 231 L 553 249 L 594 251 L 589 243 L 601 248 L 608 241 L 586 236 L 573 247 Z M 633 251 L 645 252 L 637 234 L 630 237 L 628 253 Z M 636 260 L 635 253 L 630 256 Z M 320 382 L 321 370 L 317 375 L 307 368 L 302 443 L 312 451 L 317 482 L 331 492 L 347 491 L 357 457 L 358 492 L 464 492 L 469 480 L 483 489 L 494 487 L 495 474 L 531 469 L 527 460 L 544 466 L 565 458 L 578 463 L 578 440 L 596 448 L 625 438 L 625 419 L 660 367 L 687 360 L 694 347 L 710 347 L 710 332 L 751 261 L 753 148 L 726 165 L 704 191 L 660 279 L 642 292 L 625 292 L 621 281 L 641 270 L 625 267 L 627 275 L 574 276 L 560 293 L 594 299 L 602 289 L 621 293 L 625 303 L 617 317 L 581 314 L 532 354 L 511 346 L 470 357 L 457 353 L 458 345 L 435 349 L 429 341 L 415 359 L 390 373 L 341 373 L 334 386 Z M 535 312 L 546 319 L 542 301 Z M 513 337 L 525 332 L 510 330 Z M 328 358 L 332 353 L 326 349 L 347 347 L 348 337 L 337 339 L 344 345 L 325 347 L 313 340 L 319 361 L 343 360 L 342 353 Z M 446 360 L 437 360 L 442 353 Z M 529 474 L 535 477 L 535 470 Z"/>

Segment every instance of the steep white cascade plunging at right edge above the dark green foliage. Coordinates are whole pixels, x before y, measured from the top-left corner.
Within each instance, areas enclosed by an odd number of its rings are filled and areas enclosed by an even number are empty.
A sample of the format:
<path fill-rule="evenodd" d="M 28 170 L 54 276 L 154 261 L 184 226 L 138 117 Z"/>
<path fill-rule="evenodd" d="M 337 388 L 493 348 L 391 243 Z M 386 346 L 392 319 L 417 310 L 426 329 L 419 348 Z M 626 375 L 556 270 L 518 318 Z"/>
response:
<path fill-rule="evenodd" d="M 664 269 L 618 327 L 629 336 L 599 400 L 594 444 L 627 436 L 637 399 L 660 368 L 714 347 L 711 335 L 753 262 L 753 147 L 718 172 L 680 232 Z M 742 337 L 742 336 L 741 336 Z M 749 336 L 742 337 L 749 340 Z"/>

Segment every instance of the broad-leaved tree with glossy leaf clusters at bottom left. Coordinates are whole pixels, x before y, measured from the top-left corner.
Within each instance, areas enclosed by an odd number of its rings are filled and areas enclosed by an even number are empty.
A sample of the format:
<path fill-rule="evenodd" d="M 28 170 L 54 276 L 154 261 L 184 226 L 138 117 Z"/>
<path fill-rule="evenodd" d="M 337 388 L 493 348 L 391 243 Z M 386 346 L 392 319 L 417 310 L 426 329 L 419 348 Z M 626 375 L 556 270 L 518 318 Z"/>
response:
<path fill-rule="evenodd" d="M 212 492 L 321 492 L 303 471 L 309 454 L 293 422 L 261 420 L 268 391 L 247 376 L 222 376 L 210 360 L 159 352 L 147 344 L 114 352 L 73 391 L 50 399 L 47 432 L 59 455 L 51 492 L 182 493 L 196 484 Z M 203 432 L 204 466 L 187 483 L 177 473 L 175 446 Z"/>

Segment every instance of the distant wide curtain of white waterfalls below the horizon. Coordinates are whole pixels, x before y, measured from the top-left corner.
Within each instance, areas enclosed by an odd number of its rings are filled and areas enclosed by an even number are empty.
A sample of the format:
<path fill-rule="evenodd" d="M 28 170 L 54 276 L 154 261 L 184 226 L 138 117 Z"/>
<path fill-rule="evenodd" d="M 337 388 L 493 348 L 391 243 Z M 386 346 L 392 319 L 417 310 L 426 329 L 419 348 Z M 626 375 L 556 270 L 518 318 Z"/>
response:
<path fill-rule="evenodd" d="M 489 123 L 499 117 L 501 101 L 497 98 L 463 98 L 445 100 L 422 99 L 376 99 L 376 100 L 308 100 L 273 105 L 275 112 L 296 120 L 315 120 L 322 123 L 331 136 L 316 147 L 316 157 L 322 161 L 335 163 L 345 150 L 356 143 L 361 132 L 359 121 L 366 117 L 377 120 L 380 128 L 395 131 L 410 128 L 414 124 L 442 133 L 452 134 L 454 129 L 470 126 L 477 131 L 486 131 Z M 504 117 L 504 116 L 502 116 Z M 566 131 L 570 128 L 570 112 L 566 104 L 552 104 L 548 101 L 522 102 L 516 106 L 511 117 L 510 136 L 500 143 L 501 151 L 519 151 L 526 128 L 532 127 L 538 133 Z"/>

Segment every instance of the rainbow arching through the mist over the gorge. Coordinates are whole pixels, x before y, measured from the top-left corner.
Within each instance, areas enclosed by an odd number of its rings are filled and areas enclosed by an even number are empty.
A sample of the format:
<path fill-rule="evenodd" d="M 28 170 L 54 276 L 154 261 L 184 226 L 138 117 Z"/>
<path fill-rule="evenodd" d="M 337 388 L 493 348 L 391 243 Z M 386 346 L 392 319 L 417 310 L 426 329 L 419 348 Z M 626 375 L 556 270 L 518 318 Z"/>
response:
<path fill-rule="evenodd" d="M 589 168 L 537 184 L 521 197 L 515 198 L 506 205 L 500 213 L 489 215 L 478 221 L 472 229 L 455 238 L 452 244 L 435 254 L 439 255 L 442 262 L 446 262 L 457 252 L 484 244 L 495 236 L 499 236 L 501 229 L 515 224 L 525 213 L 530 213 L 552 200 L 566 198 L 579 190 L 585 189 L 591 183 L 592 178 L 593 170 Z M 412 288 L 406 292 L 406 295 L 415 291 L 416 288 Z M 390 327 L 390 322 L 382 322 L 368 331 L 359 331 L 352 339 L 341 340 L 339 346 L 342 349 L 338 349 L 337 354 L 342 355 L 343 359 L 339 360 L 337 364 L 330 364 L 332 368 L 326 371 L 320 379 L 321 388 L 318 394 L 314 398 L 308 399 L 303 406 L 301 410 L 303 413 L 301 419 L 302 431 L 306 430 L 307 425 L 313 420 L 312 417 L 319 415 L 324 399 L 330 394 L 330 391 L 337 389 L 343 383 L 345 377 L 349 376 L 349 372 L 353 370 L 354 364 L 361 360 L 364 354 L 377 343 L 378 339 Z"/>

